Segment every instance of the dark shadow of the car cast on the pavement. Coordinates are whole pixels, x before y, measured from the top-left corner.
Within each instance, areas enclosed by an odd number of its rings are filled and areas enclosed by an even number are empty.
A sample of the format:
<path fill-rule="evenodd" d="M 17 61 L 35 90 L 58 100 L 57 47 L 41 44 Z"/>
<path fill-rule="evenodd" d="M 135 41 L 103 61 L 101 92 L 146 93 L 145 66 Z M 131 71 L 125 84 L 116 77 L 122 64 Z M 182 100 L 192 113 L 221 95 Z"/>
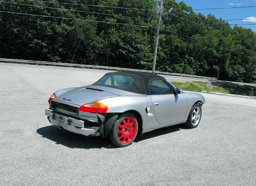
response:
<path fill-rule="evenodd" d="M 135 143 L 143 141 L 145 139 L 150 139 L 160 135 L 165 135 L 168 133 L 180 131 L 180 129 L 187 129 L 183 125 L 174 125 L 170 127 L 165 127 L 157 129 L 148 133 L 143 134 L 142 136 L 136 137 L 134 140 Z M 112 145 L 110 137 L 99 138 L 99 137 L 87 137 L 84 135 L 79 135 L 70 132 L 61 132 L 57 129 L 56 126 L 50 125 L 42 127 L 36 130 L 36 132 L 42 137 L 54 141 L 56 144 L 61 144 L 71 149 L 114 149 L 116 146 Z"/>

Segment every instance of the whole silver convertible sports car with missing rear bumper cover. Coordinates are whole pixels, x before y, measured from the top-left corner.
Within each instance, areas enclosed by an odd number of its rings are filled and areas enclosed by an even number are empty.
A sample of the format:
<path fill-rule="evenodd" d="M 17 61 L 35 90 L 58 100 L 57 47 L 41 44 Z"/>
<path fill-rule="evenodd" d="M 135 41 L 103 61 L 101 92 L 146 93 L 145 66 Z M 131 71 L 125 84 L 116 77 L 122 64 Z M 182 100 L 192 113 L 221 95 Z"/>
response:
<path fill-rule="evenodd" d="M 92 85 L 64 88 L 50 96 L 48 120 L 60 131 L 107 137 L 125 147 L 162 127 L 198 126 L 205 99 L 182 92 L 162 76 L 146 72 L 110 72 Z"/>

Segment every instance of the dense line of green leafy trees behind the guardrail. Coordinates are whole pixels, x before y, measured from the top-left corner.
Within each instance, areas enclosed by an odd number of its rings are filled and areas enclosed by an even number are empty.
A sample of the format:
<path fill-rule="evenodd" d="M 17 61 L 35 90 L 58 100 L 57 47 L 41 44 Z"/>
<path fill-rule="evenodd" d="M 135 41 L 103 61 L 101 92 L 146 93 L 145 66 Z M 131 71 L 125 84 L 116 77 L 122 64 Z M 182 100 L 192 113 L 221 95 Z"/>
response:
<path fill-rule="evenodd" d="M 34 6 L 0 3 L 0 10 L 61 18 L 0 12 L 1 58 L 152 69 L 158 21 L 158 15 L 151 11 L 155 0 L 60 1 L 146 10 L 60 4 L 58 0 L 8 2 Z M 211 14 L 195 14 L 183 2 L 164 0 L 165 12 L 170 8 L 174 16 L 163 16 L 156 70 L 255 83 L 256 33 L 244 27 L 232 28 Z"/>

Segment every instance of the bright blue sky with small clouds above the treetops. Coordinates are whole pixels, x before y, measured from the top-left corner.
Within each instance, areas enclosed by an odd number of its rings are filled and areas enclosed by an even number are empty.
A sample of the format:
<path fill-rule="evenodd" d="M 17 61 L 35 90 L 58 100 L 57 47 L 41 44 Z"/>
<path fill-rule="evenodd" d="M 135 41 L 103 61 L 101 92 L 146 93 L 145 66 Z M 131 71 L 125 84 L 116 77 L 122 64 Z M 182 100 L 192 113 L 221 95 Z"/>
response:
<path fill-rule="evenodd" d="M 176 0 L 176 2 L 183 1 L 187 6 L 193 9 L 201 8 L 224 8 L 224 7 L 239 7 L 239 6 L 256 6 L 256 0 Z M 196 14 L 201 13 L 205 16 L 213 14 L 216 18 L 223 20 L 234 20 L 244 18 L 256 18 L 256 7 L 251 8 L 234 8 L 234 9 L 220 9 L 220 10 L 194 10 Z M 256 23 L 256 20 L 250 21 L 228 21 L 230 24 L 250 24 Z M 241 25 L 246 28 L 251 28 L 256 32 L 256 25 Z"/>

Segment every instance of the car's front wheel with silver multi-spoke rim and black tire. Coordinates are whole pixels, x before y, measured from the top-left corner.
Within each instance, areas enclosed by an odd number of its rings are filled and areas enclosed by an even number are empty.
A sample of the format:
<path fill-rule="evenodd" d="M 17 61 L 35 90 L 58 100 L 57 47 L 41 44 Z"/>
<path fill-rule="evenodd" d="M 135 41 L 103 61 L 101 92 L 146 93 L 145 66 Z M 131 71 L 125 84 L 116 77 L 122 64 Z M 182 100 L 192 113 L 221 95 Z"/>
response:
<path fill-rule="evenodd" d="M 196 111 L 198 111 L 198 113 L 200 114 L 199 117 L 198 117 L 198 114 L 196 114 Z M 195 117 L 196 121 L 193 119 L 193 117 Z M 189 112 L 188 120 L 185 123 L 186 127 L 190 128 L 190 129 L 196 128 L 198 126 L 198 124 L 200 123 L 201 117 L 202 117 L 201 104 L 194 104 L 194 106 L 192 106 L 192 108 Z"/>

